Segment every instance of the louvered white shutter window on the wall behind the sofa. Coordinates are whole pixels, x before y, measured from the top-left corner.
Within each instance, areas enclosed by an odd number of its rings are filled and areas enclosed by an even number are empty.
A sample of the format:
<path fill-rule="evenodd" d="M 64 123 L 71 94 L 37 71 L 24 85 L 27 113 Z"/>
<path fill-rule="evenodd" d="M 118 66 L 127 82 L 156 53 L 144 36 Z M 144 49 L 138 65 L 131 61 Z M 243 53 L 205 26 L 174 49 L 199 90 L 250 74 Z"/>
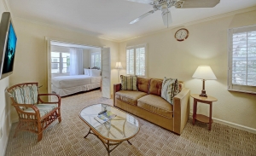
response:
<path fill-rule="evenodd" d="M 146 77 L 146 44 L 126 48 L 126 74 Z"/>

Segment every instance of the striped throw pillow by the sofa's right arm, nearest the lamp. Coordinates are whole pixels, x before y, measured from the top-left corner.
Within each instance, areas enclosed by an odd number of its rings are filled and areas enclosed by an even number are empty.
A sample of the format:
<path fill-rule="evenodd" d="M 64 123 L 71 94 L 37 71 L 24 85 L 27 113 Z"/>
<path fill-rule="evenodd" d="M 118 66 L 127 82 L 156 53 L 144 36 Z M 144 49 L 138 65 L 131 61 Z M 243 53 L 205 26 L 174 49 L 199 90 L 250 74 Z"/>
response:
<path fill-rule="evenodd" d="M 177 78 L 164 78 L 161 97 L 173 105 L 173 97 L 178 93 Z"/>

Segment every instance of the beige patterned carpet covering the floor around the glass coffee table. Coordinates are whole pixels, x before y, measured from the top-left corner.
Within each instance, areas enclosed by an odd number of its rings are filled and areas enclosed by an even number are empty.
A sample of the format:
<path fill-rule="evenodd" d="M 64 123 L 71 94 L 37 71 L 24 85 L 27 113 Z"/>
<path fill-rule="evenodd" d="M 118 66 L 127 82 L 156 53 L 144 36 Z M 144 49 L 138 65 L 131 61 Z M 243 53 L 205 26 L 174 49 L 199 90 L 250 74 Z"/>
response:
<path fill-rule="evenodd" d="M 89 127 L 79 118 L 82 108 L 96 103 L 112 104 L 112 100 L 101 97 L 99 90 L 62 98 L 62 122 L 57 121 L 44 130 L 43 140 L 37 142 L 37 136 L 30 132 L 19 132 L 13 138 L 13 124 L 9 136 L 6 155 L 108 155 L 102 142 L 94 135 L 84 139 Z M 141 118 L 141 130 L 130 141 L 123 142 L 110 155 L 256 155 L 256 135 L 243 130 L 212 124 L 188 124 L 181 136 L 164 130 Z"/>

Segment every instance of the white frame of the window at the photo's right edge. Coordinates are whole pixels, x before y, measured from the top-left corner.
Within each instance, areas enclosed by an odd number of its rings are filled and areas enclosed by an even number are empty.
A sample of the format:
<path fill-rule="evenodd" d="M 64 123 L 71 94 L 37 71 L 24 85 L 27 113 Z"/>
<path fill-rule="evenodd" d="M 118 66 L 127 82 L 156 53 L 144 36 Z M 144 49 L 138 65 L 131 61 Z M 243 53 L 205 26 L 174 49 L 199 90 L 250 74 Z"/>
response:
<path fill-rule="evenodd" d="M 228 30 L 228 82 L 227 82 L 227 90 L 256 94 L 256 86 L 253 85 L 242 85 L 242 84 L 233 84 L 232 83 L 232 71 L 233 71 L 233 34 L 242 33 L 242 32 L 256 32 L 256 25 L 253 26 L 243 26 L 230 28 Z M 248 44 L 248 43 L 247 43 Z M 256 44 L 256 43 L 255 43 Z M 248 47 L 247 47 L 248 48 Z M 248 52 L 248 50 L 247 50 Z M 248 55 L 248 54 L 247 54 Z M 253 56 L 252 56 L 253 57 Z M 247 56 L 248 58 L 248 56 Z M 248 62 L 248 59 L 247 59 Z M 246 72 L 248 75 L 248 73 Z"/>

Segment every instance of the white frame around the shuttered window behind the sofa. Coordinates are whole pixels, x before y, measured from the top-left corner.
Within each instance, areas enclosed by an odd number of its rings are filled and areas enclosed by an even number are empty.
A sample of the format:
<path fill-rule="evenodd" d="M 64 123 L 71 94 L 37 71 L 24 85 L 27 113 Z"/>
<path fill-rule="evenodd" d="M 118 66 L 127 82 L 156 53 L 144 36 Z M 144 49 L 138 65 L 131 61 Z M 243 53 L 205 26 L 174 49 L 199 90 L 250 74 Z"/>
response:
<path fill-rule="evenodd" d="M 137 75 L 136 74 L 136 49 L 137 48 L 144 48 L 145 49 L 145 75 Z M 134 50 L 134 74 L 127 74 L 127 49 L 133 49 Z M 148 44 L 143 43 L 143 44 L 138 44 L 138 45 L 132 45 L 132 46 L 127 46 L 125 49 L 125 70 L 126 70 L 126 75 L 128 76 L 134 76 L 137 75 L 138 77 L 142 78 L 148 78 Z"/>

